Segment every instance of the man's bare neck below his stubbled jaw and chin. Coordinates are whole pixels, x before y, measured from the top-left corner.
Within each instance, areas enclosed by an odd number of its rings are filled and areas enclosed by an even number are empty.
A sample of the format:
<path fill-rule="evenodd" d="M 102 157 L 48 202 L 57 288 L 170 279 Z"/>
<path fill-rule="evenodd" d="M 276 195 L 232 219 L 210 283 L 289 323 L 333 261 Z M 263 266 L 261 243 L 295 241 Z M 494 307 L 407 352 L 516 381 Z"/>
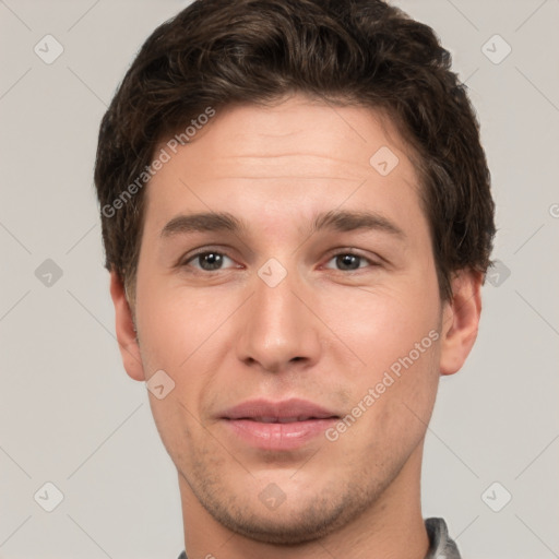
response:
<path fill-rule="evenodd" d="M 200 504 L 179 475 L 188 559 L 331 559 L 348 555 L 353 559 L 424 559 L 429 539 L 420 508 L 421 454 L 423 443 L 380 498 L 353 522 L 323 538 L 293 546 L 235 534 Z"/>

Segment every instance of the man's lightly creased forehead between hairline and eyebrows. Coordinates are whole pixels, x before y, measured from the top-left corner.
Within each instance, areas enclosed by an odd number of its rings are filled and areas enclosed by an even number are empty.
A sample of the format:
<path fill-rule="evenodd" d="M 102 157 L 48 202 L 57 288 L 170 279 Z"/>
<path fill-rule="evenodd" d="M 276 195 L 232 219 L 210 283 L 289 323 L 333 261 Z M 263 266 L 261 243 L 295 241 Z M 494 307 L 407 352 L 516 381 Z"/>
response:
<path fill-rule="evenodd" d="M 146 189 L 146 225 L 159 230 L 194 210 L 299 212 L 309 221 L 333 206 L 376 206 L 405 221 L 418 206 L 409 146 L 383 112 L 368 107 L 301 95 L 273 106 L 229 106 L 176 153 L 166 141 L 160 150 L 169 160 Z"/>

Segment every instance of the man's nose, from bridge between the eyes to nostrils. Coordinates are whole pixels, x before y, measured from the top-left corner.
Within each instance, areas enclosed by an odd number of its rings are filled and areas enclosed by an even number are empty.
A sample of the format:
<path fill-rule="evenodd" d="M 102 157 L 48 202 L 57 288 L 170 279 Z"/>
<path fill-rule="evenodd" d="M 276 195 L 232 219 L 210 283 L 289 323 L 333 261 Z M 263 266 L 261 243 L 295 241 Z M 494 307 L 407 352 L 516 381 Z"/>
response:
<path fill-rule="evenodd" d="M 254 274 L 255 293 L 243 306 L 238 356 L 246 365 L 269 372 L 308 368 L 319 360 L 321 349 L 316 294 L 295 272 L 272 285 Z"/>

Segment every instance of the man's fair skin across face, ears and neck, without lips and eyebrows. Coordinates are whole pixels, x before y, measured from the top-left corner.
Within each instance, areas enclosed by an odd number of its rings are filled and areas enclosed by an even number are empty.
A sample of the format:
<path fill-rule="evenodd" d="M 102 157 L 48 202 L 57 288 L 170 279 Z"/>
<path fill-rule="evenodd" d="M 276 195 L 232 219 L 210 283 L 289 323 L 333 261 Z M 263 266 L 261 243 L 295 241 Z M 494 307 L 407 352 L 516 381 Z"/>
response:
<path fill-rule="evenodd" d="M 386 176 L 369 163 L 382 146 L 399 157 Z M 115 273 L 110 289 L 128 374 L 163 369 L 175 382 L 150 402 L 177 466 L 189 559 L 425 557 L 424 438 L 440 376 L 462 367 L 477 335 L 481 277 L 455 274 L 441 302 L 407 154 L 380 112 L 295 95 L 221 110 L 147 186 L 135 308 Z M 377 212 L 405 238 L 311 234 L 331 210 Z M 228 212 L 247 228 L 162 237 L 194 212 Z M 223 261 L 212 271 L 195 249 Z M 335 258 L 347 252 L 360 257 L 349 266 Z M 271 258 L 287 272 L 275 287 L 258 275 Z M 253 397 L 301 397 L 343 417 L 433 331 L 335 441 L 259 450 L 218 419 Z M 285 496 L 273 510 L 259 499 L 270 484 Z"/>

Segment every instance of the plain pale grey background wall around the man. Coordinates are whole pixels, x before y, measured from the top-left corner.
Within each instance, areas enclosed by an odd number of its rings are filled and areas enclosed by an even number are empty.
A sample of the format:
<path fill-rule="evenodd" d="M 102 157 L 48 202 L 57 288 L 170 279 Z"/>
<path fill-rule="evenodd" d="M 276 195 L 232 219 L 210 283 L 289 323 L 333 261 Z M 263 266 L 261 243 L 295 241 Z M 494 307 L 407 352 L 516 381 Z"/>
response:
<path fill-rule="evenodd" d="M 466 366 L 441 381 L 424 515 L 447 519 L 465 558 L 559 557 L 559 1 L 395 3 L 436 29 L 469 87 L 502 262 Z M 175 468 L 114 336 L 92 173 L 117 84 L 187 4 L 0 0 L 2 558 L 182 549 Z M 51 64 L 34 52 L 47 34 L 64 49 Z M 496 34 L 512 47 L 500 63 Z M 50 285 L 47 259 L 62 271 Z M 47 481 L 63 493 L 52 512 Z"/>

